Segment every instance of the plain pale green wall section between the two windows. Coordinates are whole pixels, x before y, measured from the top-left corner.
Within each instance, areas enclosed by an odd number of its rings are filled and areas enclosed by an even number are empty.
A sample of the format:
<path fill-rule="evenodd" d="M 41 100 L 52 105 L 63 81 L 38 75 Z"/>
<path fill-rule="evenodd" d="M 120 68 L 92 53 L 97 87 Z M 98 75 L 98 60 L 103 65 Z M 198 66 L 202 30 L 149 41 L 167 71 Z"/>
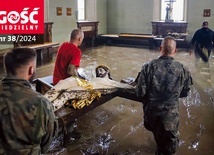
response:
<path fill-rule="evenodd" d="M 108 33 L 152 33 L 153 0 L 108 0 Z"/>

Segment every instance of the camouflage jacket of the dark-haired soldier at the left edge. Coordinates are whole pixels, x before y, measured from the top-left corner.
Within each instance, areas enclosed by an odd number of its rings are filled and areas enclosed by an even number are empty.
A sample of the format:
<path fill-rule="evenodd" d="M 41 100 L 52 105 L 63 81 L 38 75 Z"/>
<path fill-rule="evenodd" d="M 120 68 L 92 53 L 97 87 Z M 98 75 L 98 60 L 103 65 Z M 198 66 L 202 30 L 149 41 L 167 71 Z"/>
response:
<path fill-rule="evenodd" d="M 0 85 L 0 154 L 38 155 L 55 134 L 52 104 L 23 79 L 5 77 Z"/>

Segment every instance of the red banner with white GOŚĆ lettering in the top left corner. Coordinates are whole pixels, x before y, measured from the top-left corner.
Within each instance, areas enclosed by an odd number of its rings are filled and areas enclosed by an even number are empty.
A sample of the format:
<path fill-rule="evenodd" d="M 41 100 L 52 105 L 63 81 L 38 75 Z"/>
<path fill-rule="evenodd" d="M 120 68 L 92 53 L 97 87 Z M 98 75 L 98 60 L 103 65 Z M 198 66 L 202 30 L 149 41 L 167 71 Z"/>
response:
<path fill-rule="evenodd" d="M 43 34 L 44 0 L 1 0 L 0 34 Z"/>

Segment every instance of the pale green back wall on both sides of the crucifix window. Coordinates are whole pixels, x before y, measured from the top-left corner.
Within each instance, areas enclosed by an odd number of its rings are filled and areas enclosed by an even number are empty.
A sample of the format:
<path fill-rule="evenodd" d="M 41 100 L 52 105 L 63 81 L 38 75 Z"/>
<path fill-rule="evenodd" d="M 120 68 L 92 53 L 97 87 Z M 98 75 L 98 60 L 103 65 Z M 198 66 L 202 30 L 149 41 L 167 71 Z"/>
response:
<path fill-rule="evenodd" d="M 159 19 L 160 0 L 108 0 L 107 33 L 152 33 L 151 21 Z M 211 9 L 211 17 L 203 10 Z M 214 30 L 214 0 L 187 0 L 186 21 L 189 38 L 208 20 Z"/>

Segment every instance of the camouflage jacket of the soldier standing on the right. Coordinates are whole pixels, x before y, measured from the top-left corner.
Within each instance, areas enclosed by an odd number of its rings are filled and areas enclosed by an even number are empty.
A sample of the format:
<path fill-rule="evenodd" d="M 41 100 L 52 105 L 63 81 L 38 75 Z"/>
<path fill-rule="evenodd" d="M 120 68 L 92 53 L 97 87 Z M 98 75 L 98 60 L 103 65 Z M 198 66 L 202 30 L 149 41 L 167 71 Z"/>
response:
<path fill-rule="evenodd" d="M 178 109 L 180 97 L 186 97 L 192 85 L 190 72 L 172 57 L 161 56 L 142 67 L 136 87 L 144 112 Z"/>

